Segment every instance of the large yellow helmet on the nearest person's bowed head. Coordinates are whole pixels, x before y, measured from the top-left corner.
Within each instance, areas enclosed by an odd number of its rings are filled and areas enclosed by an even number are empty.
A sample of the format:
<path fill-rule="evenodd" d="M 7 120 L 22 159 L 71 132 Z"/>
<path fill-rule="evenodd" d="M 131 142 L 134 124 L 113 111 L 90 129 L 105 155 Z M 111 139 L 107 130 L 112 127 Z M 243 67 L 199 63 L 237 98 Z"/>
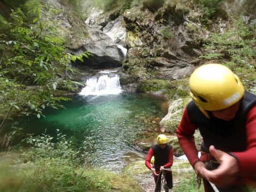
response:
<path fill-rule="evenodd" d="M 244 97 L 240 79 L 222 64 L 205 64 L 196 69 L 189 86 L 196 106 L 208 118 L 207 110 L 228 108 Z"/>

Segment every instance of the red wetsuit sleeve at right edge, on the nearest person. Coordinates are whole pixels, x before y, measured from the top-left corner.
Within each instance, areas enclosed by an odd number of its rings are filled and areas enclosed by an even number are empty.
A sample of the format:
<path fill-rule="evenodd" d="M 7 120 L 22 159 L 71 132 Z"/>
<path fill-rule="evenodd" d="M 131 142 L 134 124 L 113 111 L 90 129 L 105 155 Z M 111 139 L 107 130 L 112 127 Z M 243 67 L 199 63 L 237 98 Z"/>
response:
<path fill-rule="evenodd" d="M 256 174 L 256 106 L 247 115 L 246 120 L 247 148 L 243 152 L 232 152 L 238 160 L 241 176 Z"/>

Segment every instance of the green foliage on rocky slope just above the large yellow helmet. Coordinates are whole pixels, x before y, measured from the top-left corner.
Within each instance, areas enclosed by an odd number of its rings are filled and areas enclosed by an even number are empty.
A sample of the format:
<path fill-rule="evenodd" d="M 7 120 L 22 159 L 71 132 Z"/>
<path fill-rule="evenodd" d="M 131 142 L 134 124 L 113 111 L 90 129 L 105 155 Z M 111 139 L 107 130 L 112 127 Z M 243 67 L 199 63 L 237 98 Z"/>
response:
<path fill-rule="evenodd" d="M 208 54 L 202 57 L 216 61 L 228 59 L 230 62 L 226 65 L 240 74 L 253 70 L 250 63 L 254 63 L 256 55 L 253 49 L 256 42 L 255 29 L 254 24 L 247 25 L 242 19 L 238 19 L 235 25 L 223 34 L 211 34 L 209 42 L 204 45 Z"/>

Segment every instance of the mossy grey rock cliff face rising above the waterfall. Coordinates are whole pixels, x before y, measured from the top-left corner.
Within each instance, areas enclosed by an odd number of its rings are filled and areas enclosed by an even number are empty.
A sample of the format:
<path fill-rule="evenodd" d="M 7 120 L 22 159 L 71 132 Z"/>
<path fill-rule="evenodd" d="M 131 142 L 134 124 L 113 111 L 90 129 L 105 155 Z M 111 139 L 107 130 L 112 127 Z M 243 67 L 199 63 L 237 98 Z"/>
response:
<path fill-rule="evenodd" d="M 74 53 L 91 51 L 94 57 L 85 65 L 122 66 L 136 80 L 175 80 L 190 75 L 202 63 L 203 43 L 211 32 L 223 33 L 236 14 L 248 22 L 255 19 L 252 0 L 218 4 L 217 16 L 208 23 L 193 1 L 142 2 L 133 3 L 121 16 L 93 8 L 85 21 L 90 37 Z"/>

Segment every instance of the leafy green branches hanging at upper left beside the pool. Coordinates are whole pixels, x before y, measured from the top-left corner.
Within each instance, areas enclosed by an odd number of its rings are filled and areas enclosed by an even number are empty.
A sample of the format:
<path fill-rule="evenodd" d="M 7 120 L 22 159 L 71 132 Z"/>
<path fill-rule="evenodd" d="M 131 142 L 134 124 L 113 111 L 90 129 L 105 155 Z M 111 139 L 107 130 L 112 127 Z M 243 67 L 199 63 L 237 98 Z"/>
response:
<path fill-rule="evenodd" d="M 40 118 L 45 107 L 63 107 L 61 101 L 68 100 L 56 97 L 56 90 L 77 91 L 82 85 L 66 76 L 76 72 L 71 61 L 83 61 L 90 54 L 74 56 L 65 51 L 61 28 L 56 27 L 58 14 L 52 6 L 27 1 L 12 12 L 10 27 L 0 35 L 0 100 L 5 119 L 13 108 Z"/>

